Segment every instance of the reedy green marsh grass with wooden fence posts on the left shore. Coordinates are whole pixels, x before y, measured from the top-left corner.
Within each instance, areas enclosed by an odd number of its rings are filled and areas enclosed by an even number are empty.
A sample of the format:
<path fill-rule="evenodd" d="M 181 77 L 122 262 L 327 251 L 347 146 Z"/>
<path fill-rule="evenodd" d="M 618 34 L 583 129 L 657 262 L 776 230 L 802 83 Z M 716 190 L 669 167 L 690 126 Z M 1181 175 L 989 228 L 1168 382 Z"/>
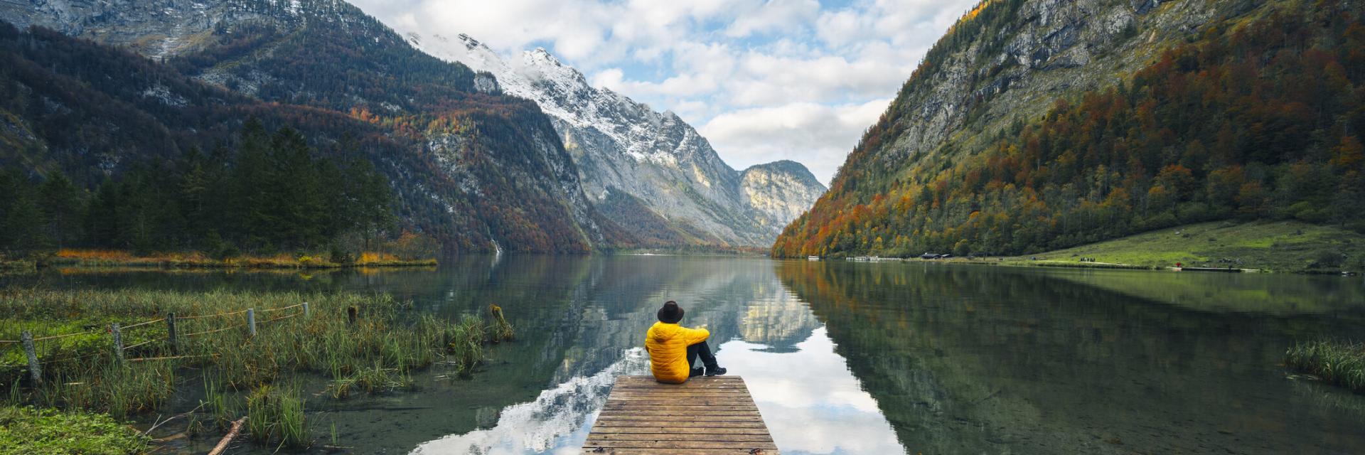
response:
<path fill-rule="evenodd" d="M 175 344 L 168 313 L 176 314 Z M 29 377 L 19 343 L 0 343 L 0 410 L 121 419 L 180 413 L 172 403 L 202 396 L 176 432 L 213 439 L 248 417 L 257 443 L 303 448 L 324 439 L 304 402 L 403 392 L 429 368 L 467 377 L 483 363 L 485 344 L 513 336 L 500 314 L 444 321 L 386 294 L 7 288 L 0 340 L 31 332 L 42 383 Z M 113 322 L 123 328 L 121 351 L 108 329 Z"/>

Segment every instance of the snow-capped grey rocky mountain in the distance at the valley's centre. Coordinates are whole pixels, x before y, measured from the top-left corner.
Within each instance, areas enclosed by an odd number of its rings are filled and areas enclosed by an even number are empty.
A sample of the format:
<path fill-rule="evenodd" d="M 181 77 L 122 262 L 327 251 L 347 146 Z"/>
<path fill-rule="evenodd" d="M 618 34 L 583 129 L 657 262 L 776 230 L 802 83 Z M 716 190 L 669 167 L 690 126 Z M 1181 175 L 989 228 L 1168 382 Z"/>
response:
<path fill-rule="evenodd" d="M 768 246 L 824 193 L 794 161 L 730 168 L 673 112 L 592 87 L 545 49 L 504 59 L 465 34 L 407 38 L 493 74 L 505 94 L 535 101 L 573 157 L 583 193 L 609 219 L 655 243 Z"/>

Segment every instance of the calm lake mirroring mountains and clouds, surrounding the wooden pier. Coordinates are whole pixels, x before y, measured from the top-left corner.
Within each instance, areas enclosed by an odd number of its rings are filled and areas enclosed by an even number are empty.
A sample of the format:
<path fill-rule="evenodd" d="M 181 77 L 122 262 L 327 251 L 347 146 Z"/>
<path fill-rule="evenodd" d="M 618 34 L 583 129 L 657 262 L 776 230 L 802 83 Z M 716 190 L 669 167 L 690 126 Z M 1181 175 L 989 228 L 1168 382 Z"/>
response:
<path fill-rule="evenodd" d="M 648 372 L 643 333 L 669 299 L 711 331 L 784 454 L 1365 454 L 1365 395 L 1282 366 L 1295 340 L 1365 335 L 1360 277 L 504 256 L 29 280 L 382 291 L 452 318 L 501 305 L 519 339 L 472 378 L 308 400 L 313 432 L 358 454 L 576 454 L 613 377 Z"/>

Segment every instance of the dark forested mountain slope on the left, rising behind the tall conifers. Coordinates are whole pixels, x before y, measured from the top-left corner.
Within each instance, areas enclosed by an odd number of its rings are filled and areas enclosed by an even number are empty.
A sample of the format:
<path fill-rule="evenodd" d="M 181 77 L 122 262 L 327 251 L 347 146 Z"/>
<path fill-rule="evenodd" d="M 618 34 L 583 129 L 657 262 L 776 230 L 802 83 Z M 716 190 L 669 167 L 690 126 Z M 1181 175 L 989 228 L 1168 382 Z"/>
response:
<path fill-rule="evenodd" d="M 232 143 L 248 118 L 322 154 L 356 149 L 400 228 L 450 251 L 629 246 L 580 190 L 530 101 L 441 61 L 340 0 L 7 1 L 0 163 L 34 180 L 105 175 Z M 173 245 L 167 247 L 184 247 Z"/>

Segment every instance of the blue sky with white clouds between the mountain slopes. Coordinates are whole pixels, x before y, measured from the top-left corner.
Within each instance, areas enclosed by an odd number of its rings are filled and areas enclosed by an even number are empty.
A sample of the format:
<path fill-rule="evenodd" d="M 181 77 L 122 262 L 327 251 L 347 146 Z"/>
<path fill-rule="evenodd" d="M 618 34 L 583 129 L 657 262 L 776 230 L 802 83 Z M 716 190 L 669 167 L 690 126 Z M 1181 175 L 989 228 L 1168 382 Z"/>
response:
<path fill-rule="evenodd" d="M 928 48 L 977 0 L 351 0 L 401 31 L 545 48 L 698 128 L 737 169 L 829 184 Z"/>

